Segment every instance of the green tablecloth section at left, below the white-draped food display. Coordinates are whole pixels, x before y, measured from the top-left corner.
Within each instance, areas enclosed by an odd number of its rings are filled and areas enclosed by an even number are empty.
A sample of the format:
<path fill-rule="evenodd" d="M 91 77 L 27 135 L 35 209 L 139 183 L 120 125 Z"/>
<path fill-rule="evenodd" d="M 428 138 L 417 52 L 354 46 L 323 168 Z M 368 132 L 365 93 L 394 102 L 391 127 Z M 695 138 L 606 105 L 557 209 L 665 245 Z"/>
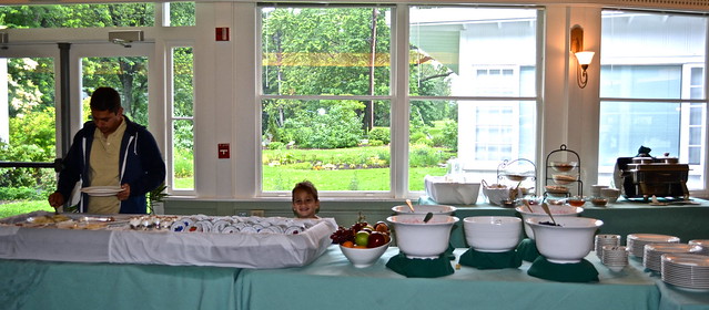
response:
<path fill-rule="evenodd" d="M 236 309 L 239 271 L 0 259 L 0 309 Z"/>

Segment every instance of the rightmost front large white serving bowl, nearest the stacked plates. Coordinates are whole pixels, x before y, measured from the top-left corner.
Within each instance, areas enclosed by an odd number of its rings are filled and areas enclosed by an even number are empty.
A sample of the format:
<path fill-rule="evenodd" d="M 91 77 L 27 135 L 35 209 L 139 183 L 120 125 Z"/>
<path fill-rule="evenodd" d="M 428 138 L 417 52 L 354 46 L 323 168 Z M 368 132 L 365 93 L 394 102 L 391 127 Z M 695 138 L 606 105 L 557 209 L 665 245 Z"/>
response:
<path fill-rule="evenodd" d="M 531 226 L 537 250 L 547 260 L 557 264 L 579 262 L 594 248 L 594 235 L 604 221 L 587 217 L 559 217 L 560 226 L 544 225 L 548 218 L 533 217 L 525 219 Z"/>

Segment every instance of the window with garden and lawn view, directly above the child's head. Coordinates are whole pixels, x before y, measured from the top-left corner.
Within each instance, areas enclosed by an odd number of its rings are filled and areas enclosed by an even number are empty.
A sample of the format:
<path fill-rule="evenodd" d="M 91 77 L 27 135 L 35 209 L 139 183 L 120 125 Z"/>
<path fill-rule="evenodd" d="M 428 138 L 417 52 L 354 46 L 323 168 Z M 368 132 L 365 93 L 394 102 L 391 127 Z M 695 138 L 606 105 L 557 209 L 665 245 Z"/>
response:
<path fill-rule="evenodd" d="M 261 184 L 388 192 L 387 7 L 261 8 Z"/>

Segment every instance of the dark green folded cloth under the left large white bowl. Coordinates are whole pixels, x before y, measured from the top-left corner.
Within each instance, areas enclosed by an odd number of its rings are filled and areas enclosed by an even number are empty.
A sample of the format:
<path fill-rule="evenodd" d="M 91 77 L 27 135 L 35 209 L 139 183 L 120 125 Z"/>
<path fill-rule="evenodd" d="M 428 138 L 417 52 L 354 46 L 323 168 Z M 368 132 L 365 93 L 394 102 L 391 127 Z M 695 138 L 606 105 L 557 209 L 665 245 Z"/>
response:
<path fill-rule="evenodd" d="M 450 259 L 445 252 L 435 259 L 407 258 L 399 252 L 389 258 L 386 267 L 408 278 L 438 278 L 454 272 Z"/>

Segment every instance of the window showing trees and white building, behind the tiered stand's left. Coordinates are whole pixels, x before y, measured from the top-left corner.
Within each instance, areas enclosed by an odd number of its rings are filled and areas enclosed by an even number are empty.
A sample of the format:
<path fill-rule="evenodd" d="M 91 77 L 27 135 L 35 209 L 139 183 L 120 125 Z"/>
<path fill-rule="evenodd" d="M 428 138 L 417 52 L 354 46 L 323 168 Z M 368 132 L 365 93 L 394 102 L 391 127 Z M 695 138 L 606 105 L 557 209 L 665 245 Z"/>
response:
<path fill-rule="evenodd" d="M 445 174 L 456 157 L 473 179 L 496 183 L 504 161 L 534 162 L 538 10 L 412 7 L 409 13 L 409 190 L 424 188 L 416 173 L 431 167 L 421 162 L 424 146 L 438 167 L 425 170 L 432 175 Z"/>

